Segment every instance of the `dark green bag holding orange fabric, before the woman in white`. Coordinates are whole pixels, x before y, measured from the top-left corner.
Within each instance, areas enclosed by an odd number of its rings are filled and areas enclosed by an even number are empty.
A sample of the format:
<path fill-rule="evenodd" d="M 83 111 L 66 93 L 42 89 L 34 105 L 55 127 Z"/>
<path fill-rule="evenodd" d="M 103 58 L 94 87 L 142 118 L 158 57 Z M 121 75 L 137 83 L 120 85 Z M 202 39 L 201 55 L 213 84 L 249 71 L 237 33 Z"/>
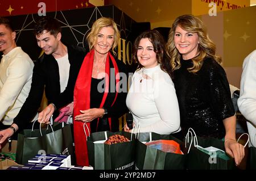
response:
<path fill-rule="evenodd" d="M 151 139 L 150 139 L 151 134 Z M 187 159 L 186 154 L 166 153 L 162 150 L 151 148 L 143 144 L 150 140 L 174 140 L 179 145 L 183 153 L 185 151 L 182 141 L 171 136 L 171 134 L 157 133 L 139 133 L 139 138 L 136 140 L 135 149 L 135 167 L 139 170 L 184 170 Z"/>

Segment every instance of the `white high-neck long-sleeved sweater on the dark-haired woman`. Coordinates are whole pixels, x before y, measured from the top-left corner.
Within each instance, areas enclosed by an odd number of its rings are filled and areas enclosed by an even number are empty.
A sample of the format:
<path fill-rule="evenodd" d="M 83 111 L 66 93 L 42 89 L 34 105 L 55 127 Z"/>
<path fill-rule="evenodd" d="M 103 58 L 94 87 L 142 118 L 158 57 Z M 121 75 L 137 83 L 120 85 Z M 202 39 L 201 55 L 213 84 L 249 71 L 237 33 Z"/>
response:
<path fill-rule="evenodd" d="M 135 125 L 139 125 L 138 132 L 180 131 L 179 104 L 170 76 L 158 65 L 135 71 L 132 80 L 126 104 L 133 113 Z"/>

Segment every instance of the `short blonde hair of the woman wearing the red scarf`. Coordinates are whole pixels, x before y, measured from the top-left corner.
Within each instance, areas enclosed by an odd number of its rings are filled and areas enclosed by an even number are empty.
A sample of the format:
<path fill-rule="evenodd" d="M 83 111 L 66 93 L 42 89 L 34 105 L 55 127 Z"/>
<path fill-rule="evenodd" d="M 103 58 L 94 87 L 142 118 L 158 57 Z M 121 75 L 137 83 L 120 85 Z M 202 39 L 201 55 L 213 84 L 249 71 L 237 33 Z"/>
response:
<path fill-rule="evenodd" d="M 117 28 L 117 24 L 115 24 L 115 22 L 112 18 L 102 17 L 102 18 L 97 19 L 93 23 L 92 30 L 88 33 L 88 35 L 86 37 L 90 50 L 92 50 L 94 45 L 96 44 L 97 34 L 98 34 L 98 32 L 101 31 L 101 28 L 109 27 L 109 26 L 114 29 L 114 43 L 113 43 L 113 46 L 112 46 L 112 51 L 113 51 L 114 54 L 116 54 L 114 49 L 118 45 L 118 41 L 120 39 L 120 33 L 119 33 L 118 28 Z"/>

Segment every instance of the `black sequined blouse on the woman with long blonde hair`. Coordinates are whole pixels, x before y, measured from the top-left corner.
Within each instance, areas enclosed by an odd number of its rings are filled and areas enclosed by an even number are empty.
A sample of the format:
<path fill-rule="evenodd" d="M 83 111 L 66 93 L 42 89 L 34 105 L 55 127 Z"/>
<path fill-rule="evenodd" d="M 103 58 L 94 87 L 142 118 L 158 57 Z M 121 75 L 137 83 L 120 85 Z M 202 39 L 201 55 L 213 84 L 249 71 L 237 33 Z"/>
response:
<path fill-rule="evenodd" d="M 187 70 L 192 65 L 192 60 L 181 60 L 181 68 L 174 71 L 181 128 L 184 133 L 191 127 L 198 136 L 223 138 L 222 120 L 235 113 L 225 70 L 212 58 L 205 58 L 197 73 Z"/>

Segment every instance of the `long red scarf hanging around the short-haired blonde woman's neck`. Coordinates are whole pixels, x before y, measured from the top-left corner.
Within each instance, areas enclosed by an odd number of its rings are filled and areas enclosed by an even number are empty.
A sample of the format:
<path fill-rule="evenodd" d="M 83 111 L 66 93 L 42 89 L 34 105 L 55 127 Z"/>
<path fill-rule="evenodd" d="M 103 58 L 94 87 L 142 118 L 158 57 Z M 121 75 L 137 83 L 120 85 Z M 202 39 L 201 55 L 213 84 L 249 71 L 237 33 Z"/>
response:
<path fill-rule="evenodd" d="M 90 85 L 92 82 L 92 69 L 93 69 L 93 57 L 94 49 L 86 54 L 84 61 L 82 62 L 79 75 L 77 76 L 75 90 L 74 90 L 74 112 L 73 117 L 80 115 L 80 110 L 88 110 L 90 108 Z M 115 69 L 115 98 L 111 106 L 113 106 L 115 100 L 117 99 L 118 87 L 119 87 L 119 71 L 117 67 L 117 62 L 115 62 L 114 57 L 110 52 L 106 57 L 106 77 L 105 77 L 105 91 L 100 104 L 100 108 L 104 106 L 105 100 L 109 92 L 109 78 L 110 78 L 110 65 L 109 57 L 112 61 L 112 64 Z M 98 121 L 100 119 L 98 118 Z M 82 121 L 73 121 L 74 124 L 74 140 L 75 140 L 75 153 L 76 153 L 76 163 L 80 166 L 88 166 L 88 150 L 86 145 L 86 137 L 84 133 L 84 122 Z M 90 131 L 90 123 L 86 123 Z M 111 129 L 111 119 L 109 119 L 109 126 Z M 98 123 L 97 123 L 98 127 Z M 88 130 L 85 128 L 86 135 L 89 136 Z"/>

